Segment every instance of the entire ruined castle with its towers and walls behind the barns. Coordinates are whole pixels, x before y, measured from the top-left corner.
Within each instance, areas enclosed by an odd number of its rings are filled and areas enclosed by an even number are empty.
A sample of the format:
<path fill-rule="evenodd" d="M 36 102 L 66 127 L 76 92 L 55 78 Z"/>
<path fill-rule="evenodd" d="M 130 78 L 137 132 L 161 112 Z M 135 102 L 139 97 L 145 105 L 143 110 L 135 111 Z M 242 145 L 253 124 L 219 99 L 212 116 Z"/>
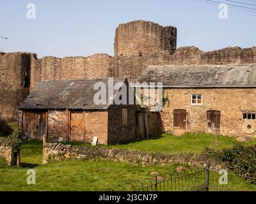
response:
<path fill-rule="evenodd" d="M 89 57 L 37 59 L 36 54 L 1 52 L 0 118 L 17 121 L 17 105 L 41 80 L 127 77 L 129 82 L 133 82 L 150 65 L 256 63 L 256 47 L 228 47 L 211 52 L 203 52 L 196 47 L 175 50 L 175 32 L 174 27 L 141 20 L 121 24 L 116 29 L 114 57 L 94 54 Z M 24 87 L 25 73 L 30 89 Z"/>

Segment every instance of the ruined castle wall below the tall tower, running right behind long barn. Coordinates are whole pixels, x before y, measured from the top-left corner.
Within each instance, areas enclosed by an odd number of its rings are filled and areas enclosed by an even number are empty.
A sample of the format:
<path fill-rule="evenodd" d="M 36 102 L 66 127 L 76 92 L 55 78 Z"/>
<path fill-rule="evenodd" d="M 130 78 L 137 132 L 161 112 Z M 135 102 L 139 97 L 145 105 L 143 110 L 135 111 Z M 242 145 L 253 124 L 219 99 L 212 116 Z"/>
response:
<path fill-rule="evenodd" d="M 173 54 L 150 52 L 142 55 L 115 56 L 109 75 L 136 78 L 150 65 L 192 65 L 192 64 L 253 64 L 256 63 L 256 47 L 228 47 L 203 52 L 196 47 L 178 48 Z"/>

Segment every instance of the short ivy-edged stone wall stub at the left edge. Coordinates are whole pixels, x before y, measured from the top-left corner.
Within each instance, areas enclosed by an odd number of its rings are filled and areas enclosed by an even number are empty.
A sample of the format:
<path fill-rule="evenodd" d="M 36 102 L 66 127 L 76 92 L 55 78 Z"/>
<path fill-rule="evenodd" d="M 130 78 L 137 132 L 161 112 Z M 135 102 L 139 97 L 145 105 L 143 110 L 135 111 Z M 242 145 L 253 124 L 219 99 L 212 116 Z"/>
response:
<path fill-rule="evenodd" d="M 0 138 L 0 157 L 5 159 L 8 165 L 17 164 L 17 157 L 12 156 L 12 149 L 8 147 L 8 138 Z"/>

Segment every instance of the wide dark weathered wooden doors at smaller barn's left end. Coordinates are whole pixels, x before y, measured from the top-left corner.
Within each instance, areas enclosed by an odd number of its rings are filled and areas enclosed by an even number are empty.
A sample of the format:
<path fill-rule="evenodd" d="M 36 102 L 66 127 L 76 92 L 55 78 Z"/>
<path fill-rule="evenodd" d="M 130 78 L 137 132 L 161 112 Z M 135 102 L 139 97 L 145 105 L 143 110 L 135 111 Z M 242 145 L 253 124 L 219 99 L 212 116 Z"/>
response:
<path fill-rule="evenodd" d="M 42 140 L 43 135 L 47 135 L 47 117 L 47 112 L 24 112 L 23 134 Z"/>

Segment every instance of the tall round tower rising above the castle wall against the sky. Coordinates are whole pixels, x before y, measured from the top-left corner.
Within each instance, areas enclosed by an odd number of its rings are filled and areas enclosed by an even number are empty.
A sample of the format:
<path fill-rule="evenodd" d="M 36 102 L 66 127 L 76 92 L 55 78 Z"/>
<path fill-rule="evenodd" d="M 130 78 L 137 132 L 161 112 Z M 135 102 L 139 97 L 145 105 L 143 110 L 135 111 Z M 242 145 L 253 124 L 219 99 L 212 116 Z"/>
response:
<path fill-rule="evenodd" d="M 163 27 L 154 22 L 135 20 L 120 24 L 115 34 L 115 56 L 145 54 L 148 52 L 173 52 L 177 46 L 177 29 Z"/>

